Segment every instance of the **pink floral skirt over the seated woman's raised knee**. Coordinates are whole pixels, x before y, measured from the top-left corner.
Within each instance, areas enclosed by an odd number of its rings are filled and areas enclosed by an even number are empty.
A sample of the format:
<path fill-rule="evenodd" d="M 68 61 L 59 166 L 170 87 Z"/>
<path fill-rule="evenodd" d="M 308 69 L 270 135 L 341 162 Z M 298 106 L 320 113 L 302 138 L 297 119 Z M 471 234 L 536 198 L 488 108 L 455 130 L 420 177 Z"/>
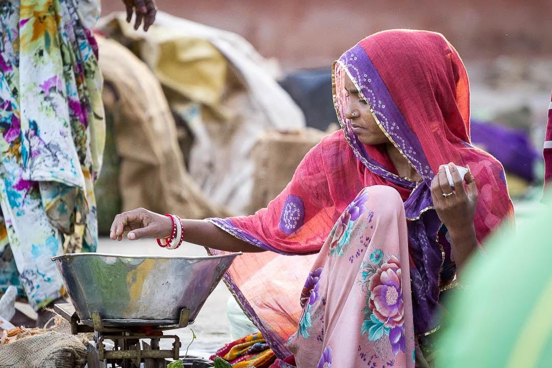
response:
<path fill-rule="evenodd" d="M 403 208 L 394 189 L 373 186 L 339 217 L 301 292 L 298 330 L 288 341 L 298 366 L 412 366 Z"/>

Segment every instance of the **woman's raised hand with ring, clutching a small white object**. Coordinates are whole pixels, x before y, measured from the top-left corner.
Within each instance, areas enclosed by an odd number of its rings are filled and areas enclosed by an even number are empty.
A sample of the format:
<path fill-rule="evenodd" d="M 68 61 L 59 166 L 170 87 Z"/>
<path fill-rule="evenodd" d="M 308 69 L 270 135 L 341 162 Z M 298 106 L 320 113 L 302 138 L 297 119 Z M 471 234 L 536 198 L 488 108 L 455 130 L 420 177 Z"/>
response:
<path fill-rule="evenodd" d="M 475 207 L 477 206 L 477 187 L 470 168 L 464 178 L 460 177 L 458 169 L 449 163 L 450 174 L 454 181 L 451 188 L 447 173 L 443 167 L 431 182 L 433 205 L 440 220 L 451 233 L 471 231 L 474 228 Z M 465 187 L 464 187 L 465 182 Z M 448 195 L 452 193 L 452 195 Z M 445 196 L 443 194 L 446 194 Z"/>

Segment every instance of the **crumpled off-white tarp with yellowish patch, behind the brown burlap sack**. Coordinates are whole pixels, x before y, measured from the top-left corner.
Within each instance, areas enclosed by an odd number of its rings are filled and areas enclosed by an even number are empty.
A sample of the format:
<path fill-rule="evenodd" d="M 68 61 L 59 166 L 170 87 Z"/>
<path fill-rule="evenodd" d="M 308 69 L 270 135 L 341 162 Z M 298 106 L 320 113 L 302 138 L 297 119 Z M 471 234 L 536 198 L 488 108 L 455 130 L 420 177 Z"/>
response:
<path fill-rule="evenodd" d="M 259 136 L 305 126 L 301 110 L 275 81 L 274 63 L 241 36 L 165 13 L 147 33 L 135 31 L 124 14 L 100 19 L 98 28 L 146 62 L 171 109 L 187 122 L 193 143 L 182 148 L 189 149 L 190 175 L 209 201 L 248 212 Z"/>

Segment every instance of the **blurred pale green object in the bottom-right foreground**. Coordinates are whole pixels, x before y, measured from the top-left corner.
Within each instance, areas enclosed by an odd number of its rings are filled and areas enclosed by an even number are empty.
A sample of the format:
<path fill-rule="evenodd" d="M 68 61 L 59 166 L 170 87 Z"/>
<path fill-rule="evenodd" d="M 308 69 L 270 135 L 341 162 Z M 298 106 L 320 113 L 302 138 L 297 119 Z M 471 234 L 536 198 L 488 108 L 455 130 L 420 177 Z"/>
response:
<path fill-rule="evenodd" d="M 544 203 L 544 204 L 543 204 Z M 437 367 L 552 367 L 552 192 L 466 266 Z"/>

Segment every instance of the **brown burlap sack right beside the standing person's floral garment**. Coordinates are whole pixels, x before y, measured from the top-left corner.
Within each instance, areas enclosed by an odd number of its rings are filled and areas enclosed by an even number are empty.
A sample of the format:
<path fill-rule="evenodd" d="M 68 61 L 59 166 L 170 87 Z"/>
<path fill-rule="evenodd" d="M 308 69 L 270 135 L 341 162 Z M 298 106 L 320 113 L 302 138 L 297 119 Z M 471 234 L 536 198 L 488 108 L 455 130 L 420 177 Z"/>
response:
<path fill-rule="evenodd" d="M 98 38 L 98 44 L 103 100 L 119 158 L 112 166 L 118 164 L 116 184 L 123 210 L 146 207 L 187 218 L 224 216 L 226 212 L 212 206 L 185 171 L 176 125 L 153 73 L 117 42 Z M 112 158 L 106 157 L 104 169 L 109 169 Z M 107 190 L 113 186 L 117 185 L 107 185 Z"/>

